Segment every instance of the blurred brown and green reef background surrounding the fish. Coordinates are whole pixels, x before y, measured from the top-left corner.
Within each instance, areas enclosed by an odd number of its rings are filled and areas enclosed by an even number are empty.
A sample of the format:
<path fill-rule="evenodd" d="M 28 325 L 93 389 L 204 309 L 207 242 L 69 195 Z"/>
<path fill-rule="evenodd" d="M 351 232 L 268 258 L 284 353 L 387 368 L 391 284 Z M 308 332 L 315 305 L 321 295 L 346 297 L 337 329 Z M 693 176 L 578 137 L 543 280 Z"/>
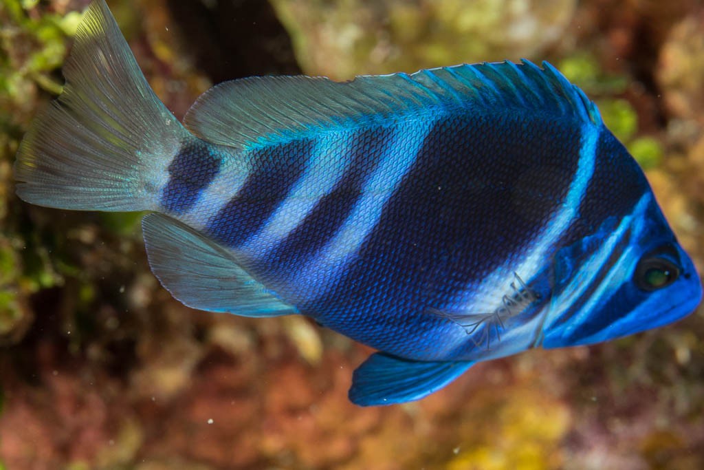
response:
<path fill-rule="evenodd" d="M 592 347 L 477 364 L 420 402 L 348 402 L 367 347 L 300 317 L 184 307 L 141 214 L 44 209 L 12 163 L 87 0 L 0 1 L 0 469 L 702 469 L 704 307 Z M 704 3 L 113 0 L 181 118 L 249 75 L 548 60 L 598 104 L 704 271 Z"/>

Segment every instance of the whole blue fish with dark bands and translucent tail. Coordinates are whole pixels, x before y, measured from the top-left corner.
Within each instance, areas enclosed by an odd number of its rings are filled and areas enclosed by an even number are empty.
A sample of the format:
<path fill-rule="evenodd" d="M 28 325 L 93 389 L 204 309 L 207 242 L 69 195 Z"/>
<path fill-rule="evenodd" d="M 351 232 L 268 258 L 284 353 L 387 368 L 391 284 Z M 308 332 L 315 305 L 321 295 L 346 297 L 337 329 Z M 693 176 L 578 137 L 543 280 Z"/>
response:
<path fill-rule="evenodd" d="M 151 211 L 153 273 L 195 309 L 300 314 L 376 348 L 352 402 L 477 361 L 681 319 L 700 278 L 643 172 L 548 63 L 217 85 L 181 124 L 104 1 L 18 150 L 17 193 Z"/>

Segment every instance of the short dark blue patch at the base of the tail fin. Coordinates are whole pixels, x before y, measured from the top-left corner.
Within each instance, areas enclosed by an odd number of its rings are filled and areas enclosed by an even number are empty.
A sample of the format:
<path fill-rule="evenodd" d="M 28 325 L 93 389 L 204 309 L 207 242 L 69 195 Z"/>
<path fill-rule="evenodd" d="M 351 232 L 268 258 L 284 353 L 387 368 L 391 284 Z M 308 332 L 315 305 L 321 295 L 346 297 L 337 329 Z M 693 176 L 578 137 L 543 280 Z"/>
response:
<path fill-rule="evenodd" d="M 161 206 L 172 214 L 184 214 L 198 200 L 220 171 L 220 155 L 200 139 L 182 145 L 168 166 L 170 179 L 161 192 Z"/>

